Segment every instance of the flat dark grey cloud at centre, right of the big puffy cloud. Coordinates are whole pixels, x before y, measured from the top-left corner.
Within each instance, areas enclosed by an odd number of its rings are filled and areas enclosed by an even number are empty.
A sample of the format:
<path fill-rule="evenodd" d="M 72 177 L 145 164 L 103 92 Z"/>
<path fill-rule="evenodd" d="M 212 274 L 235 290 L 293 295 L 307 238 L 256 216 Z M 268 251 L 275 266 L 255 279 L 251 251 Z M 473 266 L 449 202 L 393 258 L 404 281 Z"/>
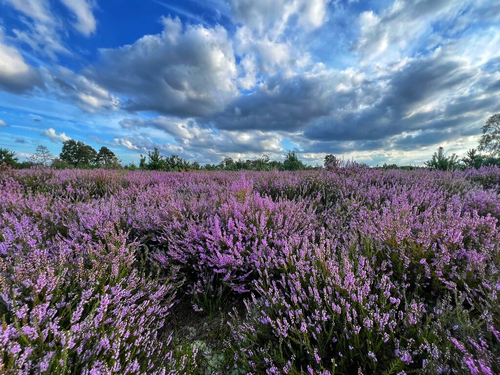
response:
<path fill-rule="evenodd" d="M 361 71 L 352 68 L 338 71 L 318 66 L 290 78 L 269 79 L 208 122 L 228 130 L 296 132 L 326 116 L 341 116 L 374 105 L 380 100 L 383 85 L 367 80 Z"/>

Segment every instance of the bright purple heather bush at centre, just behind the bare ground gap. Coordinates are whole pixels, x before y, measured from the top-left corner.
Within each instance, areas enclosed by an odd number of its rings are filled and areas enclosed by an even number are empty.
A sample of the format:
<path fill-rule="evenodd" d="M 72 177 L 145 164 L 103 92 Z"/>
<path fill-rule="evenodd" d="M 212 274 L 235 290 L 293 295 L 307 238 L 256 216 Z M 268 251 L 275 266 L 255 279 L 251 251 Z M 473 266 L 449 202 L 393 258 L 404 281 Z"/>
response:
<path fill-rule="evenodd" d="M 247 293 L 258 270 L 272 267 L 264 258 L 291 237 L 314 237 L 315 226 L 305 202 L 262 198 L 244 178 L 230 186 L 224 201 L 210 203 L 186 204 L 194 209 L 165 224 L 153 254 L 159 264 L 179 267 L 194 308 L 208 314 Z"/>

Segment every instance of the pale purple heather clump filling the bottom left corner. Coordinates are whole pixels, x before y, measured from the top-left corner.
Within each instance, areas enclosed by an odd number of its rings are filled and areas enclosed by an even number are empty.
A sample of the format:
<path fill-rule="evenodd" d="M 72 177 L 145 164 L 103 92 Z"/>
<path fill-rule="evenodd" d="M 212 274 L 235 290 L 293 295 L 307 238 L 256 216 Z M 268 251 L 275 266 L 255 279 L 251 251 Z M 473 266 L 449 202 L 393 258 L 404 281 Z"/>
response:
<path fill-rule="evenodd" d="M 2 373 L 183 373 L 192 366 L 191 357 L 176 361 L 168 348 L 174 285 L 132 268 L 135 245 L 125 234 L 44 243 L 31 218 L 2 219 Z"/>

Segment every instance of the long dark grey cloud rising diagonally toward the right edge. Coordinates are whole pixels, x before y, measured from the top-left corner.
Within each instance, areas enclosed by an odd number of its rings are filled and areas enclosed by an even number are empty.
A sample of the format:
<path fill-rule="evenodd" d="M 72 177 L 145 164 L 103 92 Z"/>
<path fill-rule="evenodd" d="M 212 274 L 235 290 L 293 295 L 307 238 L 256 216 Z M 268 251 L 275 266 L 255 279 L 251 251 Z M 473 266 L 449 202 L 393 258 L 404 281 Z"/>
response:
<path fill-rule="evenodd" d="M 389 77 L 373 80 L 379 87 L 377 100 L 352 109 L 340 107 L 312 122 L 304 135 L 316 140 L 376 140 L 404 131 L 477 124 L 484 109 L 495 108 L 495 93 L 483 92 L 480 76 L 481 71 L 466 60 L 438 51 L 411 61 Z M 456 106 L 465 100 L 470 103 Z"/>

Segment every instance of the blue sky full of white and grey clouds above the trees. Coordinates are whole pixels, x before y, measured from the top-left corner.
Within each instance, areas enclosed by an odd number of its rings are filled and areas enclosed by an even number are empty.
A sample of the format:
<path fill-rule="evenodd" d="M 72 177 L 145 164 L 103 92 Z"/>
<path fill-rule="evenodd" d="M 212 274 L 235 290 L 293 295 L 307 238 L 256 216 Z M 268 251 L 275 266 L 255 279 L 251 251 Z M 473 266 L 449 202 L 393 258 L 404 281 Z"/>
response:
<path fill-rule="evenodd" d="M 500 112 L 497 0 L 0 0 L 0 147 L 123 163 L 464 156 Z"/>

